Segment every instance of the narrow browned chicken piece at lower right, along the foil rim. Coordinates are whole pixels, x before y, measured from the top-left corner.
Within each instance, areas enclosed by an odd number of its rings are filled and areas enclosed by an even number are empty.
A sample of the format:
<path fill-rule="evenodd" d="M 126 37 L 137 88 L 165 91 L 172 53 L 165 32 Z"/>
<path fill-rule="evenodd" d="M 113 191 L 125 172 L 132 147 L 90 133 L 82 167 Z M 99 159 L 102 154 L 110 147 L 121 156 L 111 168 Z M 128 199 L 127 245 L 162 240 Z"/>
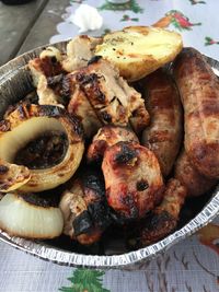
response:
<path fill-rule="evenodd" d="M 153 244 L 173 232 L 185 197 L 186 188 L 177 179 L 170 179 L 161 205 L 147 218 L 140 235 L 141 246 Z"/>

